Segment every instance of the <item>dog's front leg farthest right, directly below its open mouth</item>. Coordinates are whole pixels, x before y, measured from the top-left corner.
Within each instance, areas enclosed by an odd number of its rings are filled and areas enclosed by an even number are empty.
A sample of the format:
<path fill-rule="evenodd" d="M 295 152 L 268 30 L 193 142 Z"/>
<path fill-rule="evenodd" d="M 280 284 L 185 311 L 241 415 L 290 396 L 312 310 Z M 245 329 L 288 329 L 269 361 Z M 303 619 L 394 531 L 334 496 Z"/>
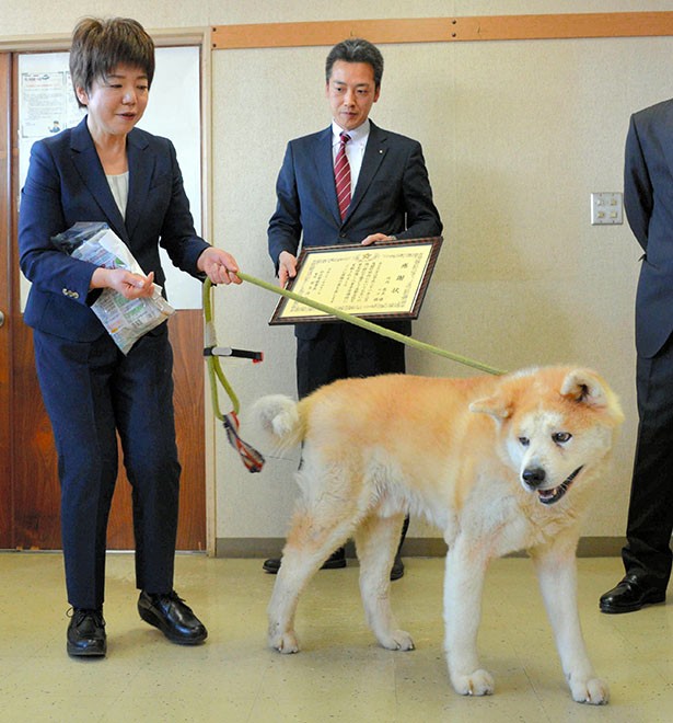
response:
<path fill-rule="evenodd" d="M 593 672 L 582 636 L 575 547 L 531 550 L 531 556 L 572 699 L 594 705 L 606 703 L 610 698 L 607 685 Z"/>

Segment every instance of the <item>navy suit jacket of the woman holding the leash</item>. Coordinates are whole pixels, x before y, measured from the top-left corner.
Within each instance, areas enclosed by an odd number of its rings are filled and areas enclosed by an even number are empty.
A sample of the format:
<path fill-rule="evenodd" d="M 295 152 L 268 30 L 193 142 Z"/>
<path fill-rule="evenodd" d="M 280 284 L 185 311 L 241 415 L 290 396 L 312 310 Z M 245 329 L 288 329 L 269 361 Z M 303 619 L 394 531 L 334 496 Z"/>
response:
<path fill-rule="evenodd" d="M 96 297 L 89 288 L 95 267 L 50 242 L 77 221 L 105 221 L 161 286 L 160 240 L 176 266 L 199 275 L 196 262 L 208 244 L 194 229 L 173 145 L 135 128 L 127 152 L 129 192 L 123 219 L 86 118 L 33 146 L 19 214 L 21 269 L 33 284 L 24 313 L 28 325 L 81 342 L 105 333 L 89 308 Z"/>

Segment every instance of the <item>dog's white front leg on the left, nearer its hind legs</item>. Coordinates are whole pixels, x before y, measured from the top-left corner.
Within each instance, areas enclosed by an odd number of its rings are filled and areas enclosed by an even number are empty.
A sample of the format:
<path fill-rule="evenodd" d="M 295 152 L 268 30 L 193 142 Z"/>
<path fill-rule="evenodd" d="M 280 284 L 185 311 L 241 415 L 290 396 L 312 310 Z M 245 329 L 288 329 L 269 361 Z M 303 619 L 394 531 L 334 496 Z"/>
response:
<path fill-rule="evenodd" d="M 459 535 L 446 554 L 444 575 L 444 650 L 456 692 L 488 696 L 494 679 L 479 667 L 477 633 L 481 619 L 481 592 L 488 560 Z"/>

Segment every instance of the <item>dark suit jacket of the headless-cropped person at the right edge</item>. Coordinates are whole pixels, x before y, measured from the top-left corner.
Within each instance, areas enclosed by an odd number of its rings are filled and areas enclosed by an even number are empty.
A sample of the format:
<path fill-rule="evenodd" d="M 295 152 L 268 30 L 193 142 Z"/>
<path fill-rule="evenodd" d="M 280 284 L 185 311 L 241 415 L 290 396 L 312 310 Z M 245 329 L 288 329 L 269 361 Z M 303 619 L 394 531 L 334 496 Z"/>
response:
<path fill-rule="evenodd" d="M 649 358 L 673 331 L 673 100 L 631 116 L 624 205 L 645 251 L 636 295 L 636 347 Z"/>

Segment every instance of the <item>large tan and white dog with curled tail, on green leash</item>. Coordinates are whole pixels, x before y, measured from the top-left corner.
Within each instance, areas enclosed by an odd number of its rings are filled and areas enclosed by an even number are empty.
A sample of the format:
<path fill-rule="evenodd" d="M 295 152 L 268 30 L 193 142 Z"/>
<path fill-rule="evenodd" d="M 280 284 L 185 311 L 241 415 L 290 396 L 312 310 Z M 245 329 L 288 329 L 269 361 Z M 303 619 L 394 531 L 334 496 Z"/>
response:
<path fill-rule="evenodd" d="M 353 536 L 369 626 L 384 647 L 413 650 L 391 611 L 388 573 L 404 515 L 422 514 L 449 546 L 445 653 L 455 690 L 494 691 L 476 645 L 484 575 L 490 559 L 527 550 L 573 699 L 607 702 L 580 630 L 575 556 L 623 421 L 599 375 L 548 367 L 469 379 L 344 379 L 299 403 L 265 397 L 253 416 L 276 447 L 303 443 L 302 495 L 268 608 L 272 647 L 299 651 L 298 597 Z"/>

